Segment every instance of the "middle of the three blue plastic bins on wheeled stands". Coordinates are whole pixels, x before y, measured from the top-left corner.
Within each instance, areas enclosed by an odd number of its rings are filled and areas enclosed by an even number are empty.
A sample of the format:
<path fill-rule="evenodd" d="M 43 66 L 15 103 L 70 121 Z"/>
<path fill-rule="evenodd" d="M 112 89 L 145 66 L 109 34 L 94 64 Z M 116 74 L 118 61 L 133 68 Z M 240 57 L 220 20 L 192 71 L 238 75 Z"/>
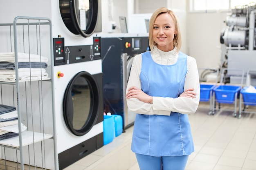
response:
<path fill-rule="evenodd" d="M 235 95 L 237 93 L 238 96 L 240 90 L 241 87 L 236 85 L 219 85 L 213 89 L 217 102 L 227 104 L 234 103 Z"/>

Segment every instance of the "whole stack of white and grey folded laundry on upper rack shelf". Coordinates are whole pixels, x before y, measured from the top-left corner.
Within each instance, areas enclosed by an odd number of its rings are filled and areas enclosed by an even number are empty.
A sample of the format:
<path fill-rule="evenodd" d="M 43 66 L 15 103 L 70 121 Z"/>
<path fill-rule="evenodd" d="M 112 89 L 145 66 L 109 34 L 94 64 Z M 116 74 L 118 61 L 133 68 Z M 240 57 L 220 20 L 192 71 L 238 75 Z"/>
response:
<path fill-rule="evenodd" d="M 47 57 L 18 52 L 19 80 L 47 78 Z M 17 65 L 14 52 L 0 53 L 0 81 L 15 81 Z"/>

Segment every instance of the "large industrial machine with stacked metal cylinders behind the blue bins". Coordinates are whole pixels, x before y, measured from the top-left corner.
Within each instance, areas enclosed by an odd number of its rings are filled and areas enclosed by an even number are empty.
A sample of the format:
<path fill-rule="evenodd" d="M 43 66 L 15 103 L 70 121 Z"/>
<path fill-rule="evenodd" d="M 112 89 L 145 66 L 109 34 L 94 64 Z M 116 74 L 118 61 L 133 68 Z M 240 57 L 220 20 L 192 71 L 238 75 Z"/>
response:
<path fill-rule="evenodd" d="M 221 69 L 229 69 L 225 83 L 240 84 L 242 77 L 247 76 L 242 83 L 256 85 L 256 73 L 253 71 L 256 55 L 255 13 L 256 5 L 250 3 L 231 9 L 226 17 L 226 27 L 220 34 Z M 245 75 L 232 69 L 242 69 Z"/>

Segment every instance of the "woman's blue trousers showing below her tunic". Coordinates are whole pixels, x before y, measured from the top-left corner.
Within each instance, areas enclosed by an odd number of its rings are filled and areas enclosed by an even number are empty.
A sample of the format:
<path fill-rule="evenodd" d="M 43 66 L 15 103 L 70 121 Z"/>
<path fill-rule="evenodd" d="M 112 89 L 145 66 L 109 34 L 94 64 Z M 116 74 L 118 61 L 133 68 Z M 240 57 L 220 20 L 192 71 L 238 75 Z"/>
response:
<path fill-rule="evenodd" d="M 184 170 L 189 155 L 153 157 L 135 154 L 140 170 Z"/>

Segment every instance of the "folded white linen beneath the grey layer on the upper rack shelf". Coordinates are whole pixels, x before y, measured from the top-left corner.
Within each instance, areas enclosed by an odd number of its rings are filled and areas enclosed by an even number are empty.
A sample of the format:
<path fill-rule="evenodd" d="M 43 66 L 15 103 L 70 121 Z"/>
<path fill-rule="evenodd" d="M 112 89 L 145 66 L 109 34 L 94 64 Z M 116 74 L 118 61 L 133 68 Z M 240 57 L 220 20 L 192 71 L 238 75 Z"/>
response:
<path fill-rule="evenodd" d="M 38 78 L 47 78 L 48 73 L 44 68 L 19 68 L 19 80 L 29 80 L 38 79 Z M 16 72 L 15 70 L 0 70 L 0 80 L 16 80 Z"/>

